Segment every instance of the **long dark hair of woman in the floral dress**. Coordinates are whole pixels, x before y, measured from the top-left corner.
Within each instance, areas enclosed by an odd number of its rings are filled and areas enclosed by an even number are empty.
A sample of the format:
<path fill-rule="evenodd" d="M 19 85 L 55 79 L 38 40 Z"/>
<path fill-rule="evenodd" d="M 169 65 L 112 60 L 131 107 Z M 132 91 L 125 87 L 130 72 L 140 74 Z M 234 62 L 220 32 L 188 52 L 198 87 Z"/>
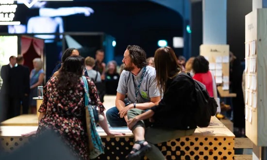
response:
<path fill-rule="evenodd" d="M 81 56 L 71 56 L 66 59 L 62 68 L 59 70 L 58 90 L 67 90 L 79 83 L 80 77 L 83 76 L 84 58 Z"/>

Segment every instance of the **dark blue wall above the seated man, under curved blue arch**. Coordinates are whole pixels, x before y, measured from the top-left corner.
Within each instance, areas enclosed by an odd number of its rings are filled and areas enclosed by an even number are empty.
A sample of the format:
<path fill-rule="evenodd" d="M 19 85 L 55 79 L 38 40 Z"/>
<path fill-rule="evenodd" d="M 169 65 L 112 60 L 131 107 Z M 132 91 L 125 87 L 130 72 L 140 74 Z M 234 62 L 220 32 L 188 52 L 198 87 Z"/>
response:
<path fill-rule="evenodd" d="M 69 6 L 70 3 L 64 3 Z M 64 6 L 64 4 L 62 4 Z M 66 32 L 105 32 L 116 38 L 115 55 L 123 55 L 127 45 L 140 45 L 153 56 L 157 41 L 166 39 L 172 47 L 174 36 L 183 36 L 183 20 L 175 11 L 152 2 L 79 2 L 95 13 L 68 16 Z M 73 4 L 72 4 L 73 6 Z M 183 49 L 175 49 L 177 55 Z"/>

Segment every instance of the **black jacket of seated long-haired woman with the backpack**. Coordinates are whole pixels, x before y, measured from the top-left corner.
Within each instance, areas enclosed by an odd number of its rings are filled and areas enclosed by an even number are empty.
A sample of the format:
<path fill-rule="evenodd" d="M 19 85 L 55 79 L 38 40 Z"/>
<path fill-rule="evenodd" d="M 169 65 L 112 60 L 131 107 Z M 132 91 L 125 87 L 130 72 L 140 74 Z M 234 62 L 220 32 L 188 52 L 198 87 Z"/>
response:
<path fill-rule="evenodd" d="M 153 127 L 171 129 L 197 128 L 195 121 L 195 86 L 192 80 L 177 75 L 167 80 L 167 90 L 159 105 L 151 107 L 155 112 Z"/>

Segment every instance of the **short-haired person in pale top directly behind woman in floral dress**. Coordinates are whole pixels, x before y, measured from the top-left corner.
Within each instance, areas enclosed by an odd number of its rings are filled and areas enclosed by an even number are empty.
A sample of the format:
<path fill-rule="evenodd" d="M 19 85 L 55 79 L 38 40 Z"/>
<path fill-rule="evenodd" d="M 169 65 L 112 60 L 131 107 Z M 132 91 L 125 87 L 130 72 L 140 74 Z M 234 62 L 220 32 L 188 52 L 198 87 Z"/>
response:
<path fill-rule="evenodd" d="M 93 70 L 93 67 L 95 66 L 95 59 L 92 57 L 86 57 L 85 58 L 85 67 L 86 72 L 88 74 L 88 77 L 93 80 L 93 82 L 101 82 L 101 75 L 98 71 Z"/>

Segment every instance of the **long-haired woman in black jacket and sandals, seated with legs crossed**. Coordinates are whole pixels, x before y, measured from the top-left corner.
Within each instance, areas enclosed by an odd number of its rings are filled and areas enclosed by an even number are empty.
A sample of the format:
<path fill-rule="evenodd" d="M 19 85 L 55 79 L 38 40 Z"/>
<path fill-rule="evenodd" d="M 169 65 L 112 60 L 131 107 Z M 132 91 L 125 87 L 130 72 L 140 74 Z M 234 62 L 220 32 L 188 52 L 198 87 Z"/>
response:
<path fill-rule="evenodd" d="M 156 50 L 155 69 L 157 87 L 164 96 L 147 112 L 140 109 L 128 111 L 127 125 L 134 133 L 135 142 L 127 160 L 138 160 L 144 155 L 150 160 L 166 160 L 153 144 L 192 135 L 197 128 L 195 85 L 180 75 L 183 74 L 182 68 L 172 48 Z"/>

